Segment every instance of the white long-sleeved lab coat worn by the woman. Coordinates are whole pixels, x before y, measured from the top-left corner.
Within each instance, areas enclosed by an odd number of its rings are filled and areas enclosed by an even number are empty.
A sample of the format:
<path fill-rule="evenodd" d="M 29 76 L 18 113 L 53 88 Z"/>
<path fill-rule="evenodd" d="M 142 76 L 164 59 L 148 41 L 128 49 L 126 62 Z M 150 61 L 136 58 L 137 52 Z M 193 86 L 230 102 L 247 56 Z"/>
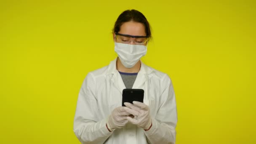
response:
<path fill-rule="evenodd" d="M 109 132 L 107 117 L 122 105 L 125 89 L 116 59 L 88 73 L 80 89 L 74 119 L 74 132 L 82 144 L 175 144 L 176 100 L 168 75 L 141 62 L 133 88 L 144 89 L 144 103 L 149 105 L 152 127 L 144 131 L 128 123 Z"/>

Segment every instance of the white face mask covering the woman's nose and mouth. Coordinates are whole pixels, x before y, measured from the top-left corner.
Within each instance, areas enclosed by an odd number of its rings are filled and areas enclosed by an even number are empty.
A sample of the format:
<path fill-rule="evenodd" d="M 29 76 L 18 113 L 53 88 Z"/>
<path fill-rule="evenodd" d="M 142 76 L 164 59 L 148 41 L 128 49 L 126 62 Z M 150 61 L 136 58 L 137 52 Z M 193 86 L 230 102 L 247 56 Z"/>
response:
<path fill-rule="evenodd" d="M 147 53 L 145 45 L 130 45 L 115 42 L 115 52 L 117 53 L 122 64 L 127 67 L 133 67 L 142 56 Z"/>

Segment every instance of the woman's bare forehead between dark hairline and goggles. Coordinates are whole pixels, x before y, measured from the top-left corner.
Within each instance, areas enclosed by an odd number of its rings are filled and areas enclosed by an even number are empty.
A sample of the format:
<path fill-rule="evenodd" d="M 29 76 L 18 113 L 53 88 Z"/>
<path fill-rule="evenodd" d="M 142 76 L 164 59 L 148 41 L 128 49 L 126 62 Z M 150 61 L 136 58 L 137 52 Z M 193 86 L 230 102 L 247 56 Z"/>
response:
<path fill-rule="evenodd" d="M 118 33 L 126 35 L 146 36 L 144 25 L 134 21 L 128 21 L 123 23 Z"/>

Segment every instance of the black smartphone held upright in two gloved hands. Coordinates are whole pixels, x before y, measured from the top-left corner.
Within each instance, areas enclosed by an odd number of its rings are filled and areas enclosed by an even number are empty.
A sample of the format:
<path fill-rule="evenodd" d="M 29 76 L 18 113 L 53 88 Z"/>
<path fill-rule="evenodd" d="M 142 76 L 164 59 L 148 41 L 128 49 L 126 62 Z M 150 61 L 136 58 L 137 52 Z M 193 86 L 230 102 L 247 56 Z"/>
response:
<path fill-rule="evenodd" d="M 123 100 L 122 106 L 125 107 L 123 104 L 124 102 L 133 103 L 133 101 L 143 102 L 144 99 L 144 90 L 143 89 L 123 89 Z"/>

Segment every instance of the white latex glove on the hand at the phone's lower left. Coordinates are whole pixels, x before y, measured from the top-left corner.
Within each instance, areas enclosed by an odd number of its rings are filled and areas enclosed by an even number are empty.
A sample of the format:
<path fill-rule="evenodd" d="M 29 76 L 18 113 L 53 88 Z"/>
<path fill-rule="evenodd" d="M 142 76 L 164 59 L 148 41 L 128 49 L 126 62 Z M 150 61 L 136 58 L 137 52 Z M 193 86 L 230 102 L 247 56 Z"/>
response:
<path fill-rule="evenodd" d="M 114 131 L 116 128 L 122 128 L 128 123 L 127 116 L 131 115 L 130 113 L 126 112 L 125 107 L 117 107 L 109 115 L 107 120 L 107 127 L 110 131 Z"/>

